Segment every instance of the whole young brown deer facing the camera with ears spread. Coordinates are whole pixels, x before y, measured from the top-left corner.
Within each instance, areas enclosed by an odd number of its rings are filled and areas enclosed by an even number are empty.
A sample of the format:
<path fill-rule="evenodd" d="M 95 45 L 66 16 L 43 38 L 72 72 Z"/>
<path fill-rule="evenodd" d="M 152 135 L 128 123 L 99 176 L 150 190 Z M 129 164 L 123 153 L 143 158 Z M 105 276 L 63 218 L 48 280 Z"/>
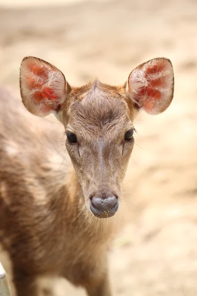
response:
<path fill-rule="evenodd" d="M 1 90 L 0 242 L 13 262 L 17 296 L 36 296 L 36 277 L 47 274 L 88 296 L 111 296 L 107 249 L 134 145 L 133 119 L 140 109 L 159 114 L 170 105 L 171 62 L 150 60 L 122 86 L 96 80 L 71 87 L 56 67 L 26 57 L 20 89 L 29 112 L 54 113 L 63 124 L 71 161 L 55 161 L 57 127 L 49 129 Z"/>

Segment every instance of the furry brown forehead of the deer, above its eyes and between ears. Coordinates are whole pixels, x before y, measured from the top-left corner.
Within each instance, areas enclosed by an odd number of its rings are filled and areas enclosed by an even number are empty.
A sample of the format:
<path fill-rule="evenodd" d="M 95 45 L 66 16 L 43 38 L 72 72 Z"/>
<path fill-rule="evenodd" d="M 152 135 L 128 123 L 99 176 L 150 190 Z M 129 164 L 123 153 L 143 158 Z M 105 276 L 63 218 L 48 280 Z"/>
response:
<path fill-rule="evenodd" d="M 120 87 L 94 81 L 75 89 L 70 95 L 72 102 L 66 113 L 73 129 L 121 130 L 131 123 L 132 108 L 129 108 L 127 95 Z"/>

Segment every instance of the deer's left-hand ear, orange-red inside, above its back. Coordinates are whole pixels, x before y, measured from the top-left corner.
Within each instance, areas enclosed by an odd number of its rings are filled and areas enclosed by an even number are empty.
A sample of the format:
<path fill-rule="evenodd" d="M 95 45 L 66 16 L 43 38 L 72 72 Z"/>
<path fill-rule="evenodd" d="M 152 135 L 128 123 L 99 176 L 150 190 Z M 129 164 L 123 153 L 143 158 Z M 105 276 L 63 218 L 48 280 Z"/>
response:
<path fill-rule="evenodd" d="M 58 112 L 66 100 L 69 85 L 55 66 L 26 57 L 20 67 L 20 90 L 26 109 L 36 116 Z"/>

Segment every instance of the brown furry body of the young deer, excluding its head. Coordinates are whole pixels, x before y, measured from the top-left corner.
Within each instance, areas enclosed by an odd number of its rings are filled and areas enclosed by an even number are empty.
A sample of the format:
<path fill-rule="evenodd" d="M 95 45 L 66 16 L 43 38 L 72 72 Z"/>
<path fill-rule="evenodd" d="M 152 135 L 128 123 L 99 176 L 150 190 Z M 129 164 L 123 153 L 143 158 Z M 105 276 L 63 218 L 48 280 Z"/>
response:
<path fill-rule="evenodd" d="M 79 99 L 82 94 L 78 89 Z M 99 114 L 103 125 L 105 119 L 110 124 L 105 112 Z M 86 210 L 64 154 L 53 163 L 60 127 L 34 117 L 2 89 L 0 124 L 0 242 L 11 256 L 18 295 L 36 296 L 34 280 L 45 274 L 65 276 L 91 296 L 110 295 L 106 251 L 115 222 L 94 218 Z M 90 133 L 87 141 L 94 129 Z"/>

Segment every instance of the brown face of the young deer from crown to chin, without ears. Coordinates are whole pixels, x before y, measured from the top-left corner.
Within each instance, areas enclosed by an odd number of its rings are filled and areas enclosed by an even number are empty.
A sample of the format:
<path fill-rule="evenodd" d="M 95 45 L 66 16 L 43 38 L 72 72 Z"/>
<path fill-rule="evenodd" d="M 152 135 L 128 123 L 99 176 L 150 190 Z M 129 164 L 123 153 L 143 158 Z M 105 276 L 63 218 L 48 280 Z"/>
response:
<path fill-rule="evenodd" d="M 133 148 L 133 108 L 124 88 L 98 81 L 71 91 L 64 109 L 66 148 L 87 207 L 98 217 L 115 214 Z"/>

